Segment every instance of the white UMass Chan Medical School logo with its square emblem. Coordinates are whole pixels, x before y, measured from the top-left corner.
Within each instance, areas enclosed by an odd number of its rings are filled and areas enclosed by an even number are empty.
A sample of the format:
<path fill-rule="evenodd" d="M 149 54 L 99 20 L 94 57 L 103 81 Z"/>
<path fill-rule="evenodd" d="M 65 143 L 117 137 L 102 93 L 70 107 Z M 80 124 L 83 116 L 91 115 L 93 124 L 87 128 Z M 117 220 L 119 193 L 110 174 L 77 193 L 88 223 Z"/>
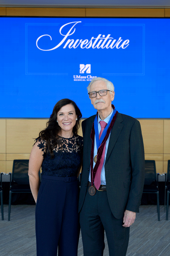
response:
<path fill-rule="evenodd" d="M 91 64 L 80 64 L 80 74 L 90 74 L 91 73 Z M 74 81 L 91 81 L 93 78 L 97 76 L 92 75 L 73 75 Z"/>

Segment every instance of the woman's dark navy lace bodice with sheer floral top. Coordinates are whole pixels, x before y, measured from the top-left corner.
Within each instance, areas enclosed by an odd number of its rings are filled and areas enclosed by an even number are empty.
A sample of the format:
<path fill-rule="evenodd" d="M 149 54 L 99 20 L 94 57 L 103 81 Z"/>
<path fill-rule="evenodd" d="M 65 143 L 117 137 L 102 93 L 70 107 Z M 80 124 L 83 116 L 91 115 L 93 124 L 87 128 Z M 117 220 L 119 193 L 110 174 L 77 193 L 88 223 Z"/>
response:
<path fill-rule="evenodd" d="M 50 153 L 46 153 L 46 142 L 39 139 L 37 146 L 44 151 L 42 163 L 42 173 L 44 175 L 71 177 L 77 176 L 81 164 L 83 151 L 83 138 L 74 134 L 72 138 L 61 139 L 61 145 L 54 148 L 54 158 L 51 159 Z"/>

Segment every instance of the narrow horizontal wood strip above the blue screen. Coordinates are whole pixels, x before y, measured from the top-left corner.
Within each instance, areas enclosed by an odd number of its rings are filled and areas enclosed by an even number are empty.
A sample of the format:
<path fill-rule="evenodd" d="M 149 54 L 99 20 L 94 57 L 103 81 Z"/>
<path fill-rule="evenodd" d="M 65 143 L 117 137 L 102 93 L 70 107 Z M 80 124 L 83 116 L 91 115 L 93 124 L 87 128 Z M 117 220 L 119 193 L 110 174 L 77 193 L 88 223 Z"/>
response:
<path fill-rule="evenodd" d="M 3 8 L 3 7 L 1 7 Z M 4 14 L 3 14 L 4 13 Z M 5 7 L 4 16 L 65 16 L 65 17 L 170 17 L 165 8 L 24 8 Z"/>

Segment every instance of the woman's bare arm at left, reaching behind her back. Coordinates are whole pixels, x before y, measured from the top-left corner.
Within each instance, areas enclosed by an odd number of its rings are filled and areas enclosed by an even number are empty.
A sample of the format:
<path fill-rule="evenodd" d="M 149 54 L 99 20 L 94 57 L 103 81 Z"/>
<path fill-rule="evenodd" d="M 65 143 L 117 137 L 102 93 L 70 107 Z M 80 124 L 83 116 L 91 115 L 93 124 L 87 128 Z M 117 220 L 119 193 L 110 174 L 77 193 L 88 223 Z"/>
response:
<path fill-rule="evenodd" d="M 43 162 L 43 151 L 37 146 L 40 142 L 37 141 L 31 151 L 29 160 L 29 180 L 30 188 L 35 202 L 37 202 L 38 190 L 39 190 L 39 175 L 38 172 Z"/>

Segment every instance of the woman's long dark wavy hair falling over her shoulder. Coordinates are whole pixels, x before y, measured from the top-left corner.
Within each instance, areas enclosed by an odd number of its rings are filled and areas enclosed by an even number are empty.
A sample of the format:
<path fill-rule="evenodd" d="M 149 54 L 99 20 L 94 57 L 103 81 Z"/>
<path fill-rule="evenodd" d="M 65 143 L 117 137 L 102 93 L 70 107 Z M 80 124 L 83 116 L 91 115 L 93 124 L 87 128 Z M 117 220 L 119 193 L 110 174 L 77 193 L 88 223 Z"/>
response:
<path fill-rule="evenodd" d="M 73 133 L 77 133 L 80 127 L 80 119 L 82 117 L 82 113 L 80 109 L 75 104 L 74 101 L 69 99 L 59 100 L 53 109 L 53 112 L 50 116 L 49 121 L 46 124 L 46 129 L 40 131 L 39 137 L 37 139 L 42 139 L 46 141 L 47 152 L 50 152 L 51 158 L 54 157 L 53 149 L 57 145 L 61 145 L 60 137 L 58 137 L 58 133 L 61 131 L 61 127 L 58 125 L 57 121 L 57 113 L 58 111 L 65 105 L 72 104 L 75 109 L 75 114 L 77 115 L 77 121 L 73 127 Z M 51 143 L 52 142 L 52 143 Z"/>

